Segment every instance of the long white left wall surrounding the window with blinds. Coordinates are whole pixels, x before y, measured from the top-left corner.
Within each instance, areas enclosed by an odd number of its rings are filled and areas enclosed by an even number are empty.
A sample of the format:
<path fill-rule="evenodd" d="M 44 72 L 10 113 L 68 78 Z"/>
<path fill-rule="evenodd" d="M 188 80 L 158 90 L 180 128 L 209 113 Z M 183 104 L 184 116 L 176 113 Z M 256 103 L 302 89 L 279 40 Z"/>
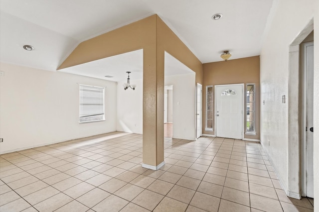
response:
<path fill-rule="evenodd" d="M 116 130 L 116 84 L 0 64 L 0 154 Z M 106 87 L 106 120 L 79 123 L 79 85 Z"/>

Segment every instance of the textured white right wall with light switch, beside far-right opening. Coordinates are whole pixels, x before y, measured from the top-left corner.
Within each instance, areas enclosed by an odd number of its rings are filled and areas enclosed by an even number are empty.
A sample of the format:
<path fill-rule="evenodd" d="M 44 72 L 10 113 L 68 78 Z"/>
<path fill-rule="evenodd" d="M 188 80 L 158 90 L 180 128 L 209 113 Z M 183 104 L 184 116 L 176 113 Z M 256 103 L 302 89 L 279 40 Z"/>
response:
<path fill-rule="evenodd" d="M 270 156 L 287 194 L 300 192 L 298 189 L 299 164 L 295 163 L 295 166 L 289 166 L 289 160 L 295 159 L 297 162 L 299 160 L 298 145 L 293 146 L 295 144 L 288 139 L 294 136 L 292 133 L 295 133 L 290 131 L 289 127 L 294 125 L 298 128 L 299 125 L 298 114 L 295 115 L 297 120 L 289 116 L 289 114 L 292 114 L 291 111 L 295 110 L 295 107 L 298 108 L 298 104 L 290 106 L 289 103 L 295 100 L 298 101 L 299 95 L 298 76 L 289 71 L 290 45 L 307 24 L 311 22 L 314 13 L 318 13 L 318 6 L 314 5 L 315 1 L 318 4 L 318 0 L 274 0 L 275 7 L 271 11 L 269 18 L 271 22 L 268 22 L 267 25 L 265 42 L 263 43 L 260 57 L 261 143 Z M 317 10 L 315 11 L 314 8 Z M 318 15 L 314 21 L 315 25 L 316 22 L 318 24 Z M 318 57 L 318 45 L 316 47 L 316 42 L 317 44 L 319 43 L 318 38 L 315 30 L 315 57 L 316 55 Z M 317 70 L 315 72 L 318 72 L 318 59 L 316 61 L 315 67 L 317 67 Z M 295 86 L 289 84 L 288 79 L 297 81 L 297 84 L 294 84 Z M 318 85 L 318 82 L 315 82 L 316 85 Z M 297 88 L 297 92 L 292 92 L 288 89 L 291 86 Z M 286 104 L 282 103 L 283 95 L 287 97 Z M 318 93 L 317 95 L 315 93 L 315 99 L 318 97 Z M 265 105 L 262 104 L 263 101 L 265 101 Z M 318 153 L 316 155 L 317 159 L 315 160 L 318 160 Z M 289 173 L 294 173 L 294 176 Z M 317 196 L 317 198 L 319 197 Z"/>

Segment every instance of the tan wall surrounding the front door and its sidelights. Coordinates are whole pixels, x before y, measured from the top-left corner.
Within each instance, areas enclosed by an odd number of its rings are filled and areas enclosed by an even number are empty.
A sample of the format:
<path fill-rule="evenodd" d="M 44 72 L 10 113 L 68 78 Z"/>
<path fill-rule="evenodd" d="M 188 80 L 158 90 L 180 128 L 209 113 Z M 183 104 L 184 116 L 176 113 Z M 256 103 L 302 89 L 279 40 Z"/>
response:
<path fill-rule="evenodd" d="M 256 85 L 256 135 L 245 138 L 259 139 L 259 56 L 203 64 L 203 134 L 215 135 L 215 131 L 205 131 L 206 86 L 255 83 Z M 215 113 L 213 113 L 215 114 Z M 213 123 L 214 123 L 213 116 Z M 245 126 L 245 124 L 244 124 Z"/>

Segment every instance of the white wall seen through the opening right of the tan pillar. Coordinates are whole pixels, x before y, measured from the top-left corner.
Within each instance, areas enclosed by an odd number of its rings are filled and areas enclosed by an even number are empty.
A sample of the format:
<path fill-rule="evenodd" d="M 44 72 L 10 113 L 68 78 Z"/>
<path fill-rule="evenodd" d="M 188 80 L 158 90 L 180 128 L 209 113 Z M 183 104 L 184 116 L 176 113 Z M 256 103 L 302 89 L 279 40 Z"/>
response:
<path fill-rule="evenodd" d="M 195 140 L 195 73 L 165 76 L 164 85 L 173 86 L 173 138 Z"/>

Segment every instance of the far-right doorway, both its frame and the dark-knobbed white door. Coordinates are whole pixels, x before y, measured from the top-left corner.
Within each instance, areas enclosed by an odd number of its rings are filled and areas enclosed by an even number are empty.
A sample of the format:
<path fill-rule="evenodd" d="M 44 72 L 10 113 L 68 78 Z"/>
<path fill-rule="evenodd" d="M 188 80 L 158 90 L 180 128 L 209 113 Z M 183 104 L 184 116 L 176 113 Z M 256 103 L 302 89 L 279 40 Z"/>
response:
<path fill-rule="evenodd" d="M 314 42 L 301 44 L 302 196 L 314 198 Z"/>

